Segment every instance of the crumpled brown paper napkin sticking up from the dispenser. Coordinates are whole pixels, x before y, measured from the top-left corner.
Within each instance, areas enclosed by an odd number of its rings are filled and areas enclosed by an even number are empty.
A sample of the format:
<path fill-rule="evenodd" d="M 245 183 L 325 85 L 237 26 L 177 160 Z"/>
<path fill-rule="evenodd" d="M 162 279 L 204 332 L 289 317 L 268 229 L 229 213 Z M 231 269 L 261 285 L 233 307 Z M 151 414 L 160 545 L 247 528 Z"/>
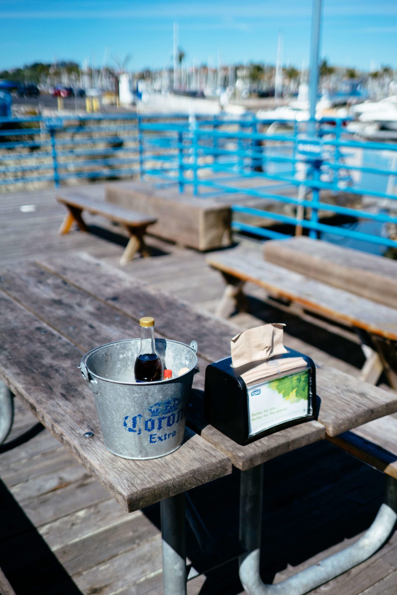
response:
<path fill-rule="evenodd" d="M 274 322 L 262 327 L 249 328 L 233 337 L 230 341 L 233 368 L 288 353 L 283 346 L 284 327 L 285 324 Z"/>

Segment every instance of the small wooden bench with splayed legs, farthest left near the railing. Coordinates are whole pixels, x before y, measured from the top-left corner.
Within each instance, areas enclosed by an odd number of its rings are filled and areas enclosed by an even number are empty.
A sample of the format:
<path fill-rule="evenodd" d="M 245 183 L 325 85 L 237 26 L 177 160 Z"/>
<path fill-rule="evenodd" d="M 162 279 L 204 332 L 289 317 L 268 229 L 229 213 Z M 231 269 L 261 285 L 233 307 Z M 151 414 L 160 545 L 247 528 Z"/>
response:
<path fill-rule="evenodd" d="M 143 237 L 146 233 L 146 227 L 156 223 L 157 219 L 155 217 L 122 206 L 95 201 L 88 196 L 74 193 L 57 196 L 57 201 L 65 205 L 68 211 L 60 227 L 60 234 L 68 233 L 73 223 L 76 223 L 81 231 L 88 231 L 82 218 L 82 212 L 87 211 L 92 215 L 101 215 L 110 221 L 114 221 L 114 223 L 120 223 L 129 233 L 130 239 L 120 258 L 121 264 L 132 260 L 137 250 L 142 256 L 149 256 Z"/>

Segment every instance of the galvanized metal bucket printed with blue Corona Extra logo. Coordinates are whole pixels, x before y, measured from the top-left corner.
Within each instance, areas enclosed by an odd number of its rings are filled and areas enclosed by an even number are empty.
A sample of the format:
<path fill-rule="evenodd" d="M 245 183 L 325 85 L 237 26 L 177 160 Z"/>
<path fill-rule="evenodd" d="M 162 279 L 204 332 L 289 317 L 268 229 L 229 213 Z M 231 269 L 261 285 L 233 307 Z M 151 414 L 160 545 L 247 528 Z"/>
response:
<path fill-rule="evenodd" d="M 157 459 L 183 442 L 197 343 L 156 339 L 156 350 L 173 378 L 135 382 L 140 339 L 95 347 L 80 362 L 95 395 L 105 446 L 124 459 Z M 181 368 L 188 371 L 177 376 Z"/>

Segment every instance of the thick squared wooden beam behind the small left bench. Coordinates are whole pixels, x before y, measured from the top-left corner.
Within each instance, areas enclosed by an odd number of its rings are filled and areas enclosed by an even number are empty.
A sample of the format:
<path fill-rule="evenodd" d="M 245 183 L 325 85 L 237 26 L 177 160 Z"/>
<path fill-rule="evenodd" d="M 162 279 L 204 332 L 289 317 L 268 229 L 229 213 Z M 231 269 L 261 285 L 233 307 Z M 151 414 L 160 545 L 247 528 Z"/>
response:
<path fill-rule="evenodd" d="M 105 187 L 106 201 L 153 215 L 150 233 L 196 250 L 230 246 L 230 204 L 196 198 L 173 189 L 157 189 L 141 181 L 115 182 Z"/>

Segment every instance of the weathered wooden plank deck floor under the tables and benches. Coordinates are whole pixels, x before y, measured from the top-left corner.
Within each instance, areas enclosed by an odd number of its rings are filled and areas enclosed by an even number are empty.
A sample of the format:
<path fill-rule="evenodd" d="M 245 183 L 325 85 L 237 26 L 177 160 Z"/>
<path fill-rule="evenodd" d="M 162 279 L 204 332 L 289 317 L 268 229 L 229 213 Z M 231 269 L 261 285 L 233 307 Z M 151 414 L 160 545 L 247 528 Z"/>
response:
<path fill-rule="evenodd" d="M 101 196 L 102 184 L 89 186 Z M 21 205 L 35 211 L 21 212 Z M 84 250 L 115 267 L 127 236 L 102 219 L 95 234 L 57 235 L 64 209 L 55 190 L 0 197 L 0 262 L 26 256 L 73 258 Z M 115 241 L 117 240 L 117 241 Z M 137 258 L 123 271 L 212 310 L 223 281 L 205 256 L 149 238 L 155 258 Z M 261 250 L 261 246 L 257 246 Z M 360 346 L 340 329 L 330 333 L 310 319 L 280 315 L 261 292 L 248 286 L 251 314 L 239 314 L 240 328 L 263 320 L 287 323 L 286 344 L 315 359 L 358 375 Z M 36 418 L 15 403 L 15 425 L 0 447 L 0 567 L 19 593 L 65 595 L 160 595 L 159 506 L 127 513 L 69 455 Z M 31 428 L 33 427 L 33 430 Z M 29 440 L 18 440 L 30 432 Z M 355 540 L 372 522 L 382 501 L 383 476 L 325 441 L 265 464 L 262 578 L 279 581 Z M 190 491 L 212 536 L 237 539 L 238 474 Z M 218 503 L 222 502 L 222 506 Z M 195 539 L 188 533 L 188 555 L 198 563 Z M 373 558 L 326 586 L 333 595 L 379 595 L 397 591 L 397 534 Z M 43 571 L 45 569 L 45 571 Z M 26 588 L 29 577 L 29 588 Z M 71 577 L 71 578 L 70 578 Z M 318 588 L 312 593 L 322 593 Z M 189 595 L 237 595 L 242 587 L 235 562 L 189 581 Z"/>

